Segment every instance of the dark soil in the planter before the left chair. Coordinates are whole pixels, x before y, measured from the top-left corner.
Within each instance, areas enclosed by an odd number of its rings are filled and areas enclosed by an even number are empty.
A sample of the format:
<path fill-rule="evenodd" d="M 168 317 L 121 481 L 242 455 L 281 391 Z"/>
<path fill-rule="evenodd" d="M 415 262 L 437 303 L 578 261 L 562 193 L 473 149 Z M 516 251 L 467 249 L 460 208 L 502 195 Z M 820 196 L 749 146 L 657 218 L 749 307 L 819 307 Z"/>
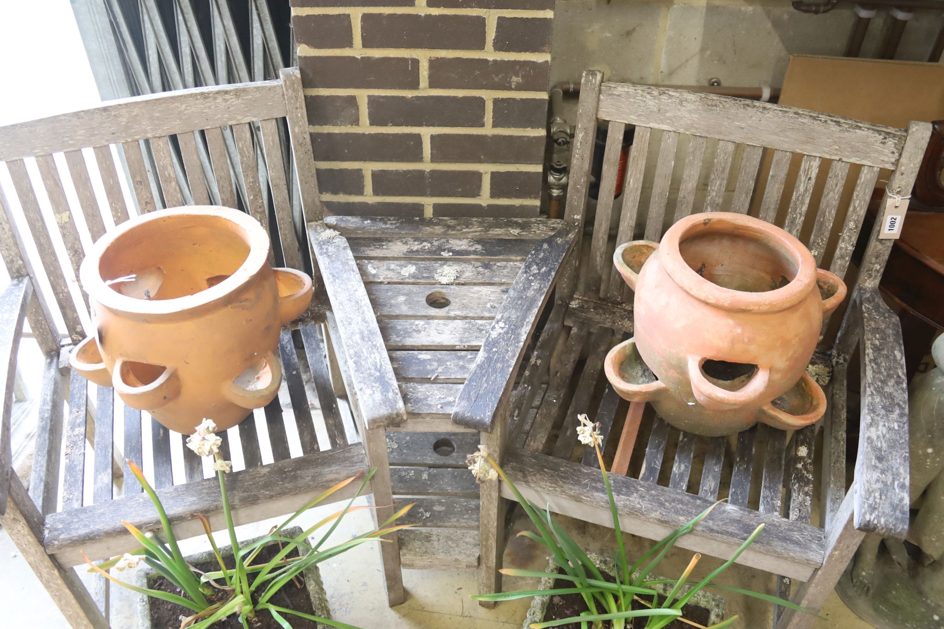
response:
<path fill-rule="evenodd" d="M 253 564 L 265 563 L 275 555 L 278 555 L 278 544 L 270 544 L 261 550 L 261 553 L 253 560 Z M 298 556 L 298 549 L 296 548 L 291 553 L 290 557 Z M 227 568 L 231 569 L 233 567 L 233 558 L 231 556 L 225 557 L 224 562 L 227 565 Z M 220 566 L 216 561 L 208 561 L 202 564 L 196 564 L 194 566 L 199 571 L 212 572 L 218 571 Z M 275 596 L 273 596 L 269 601 L 272 604 L 276 604 L 279 607 L 285 607 L 286 609 L 292 609 L 295 611 L 302 612 L 303 614 L 314 614 L 314 609 L 312 608 L 312 599 L 308 594 L 308 588 L 305 587 L 305 579 L 302 574 L 299 574 L 295 577 L 298 581 L 298 584 L 301 585 L 301 588 L 295 586 L 295 582 L 290 581 L 289 583 L 282 586 L 278 590 Z M 170 581 L 164 577 L 158 577 L 150 586 L 152 589 L 160 589 L 165 592 L 171 592 L 179 596 L 186 595 L 181 592 L 177 586 L 172 584 Z M 261 593 L 261 592 L 259 592 Z M 213 589 L 211 596 L 207 597 L 207 600 L 212 603 L 217 601 L 226 601 L 228 600 L 228 592 L 223 590 Z M 148 602 L 151 608 L 151 623 L 153 629 L 180 629 L 180 617 L 184 618 L 194 614 L 193 611 L 182 607 L 175 603 L 169 603 L 168 601 L 161 601 L 160 599 L 148 598 Z M 287 621 L 294 627 L 294 629 L 317 629 L 317 623 L 314 621 L 309 621 L 308 619 L 300 618 L 298 616 L 292 616 L 289 614 L 283 615 Z M 238 614 L 232 614 L 226 619 L 216 622 L 212 625 L 213 629 L 243 629 L 243 623 L 239 621 Z M 281 629 L 281 625 L 278 624 L 272 614 L 268 610 L 263 609 L 256 613 L 256 618 L 254 620 L 249 620 L 249 626 L 252 629 Z"/>

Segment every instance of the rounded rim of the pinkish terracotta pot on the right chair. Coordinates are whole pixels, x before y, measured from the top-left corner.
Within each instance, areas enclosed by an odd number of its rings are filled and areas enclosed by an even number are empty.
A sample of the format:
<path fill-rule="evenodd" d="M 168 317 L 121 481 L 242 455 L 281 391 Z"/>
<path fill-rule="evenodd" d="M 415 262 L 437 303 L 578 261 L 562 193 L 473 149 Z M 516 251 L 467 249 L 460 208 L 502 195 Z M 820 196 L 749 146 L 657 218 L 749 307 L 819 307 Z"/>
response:
<path fill-rule="evenodd" d="M 692 236 L 693 228 L 702 225 L 699 233 L 712 231 L 723 224 L 734 224 L 741 233 L 766 237 L 778 242 L 784 252 L 793 258 L 797 265 L 797 274 L 790 282 L 779 289 L 764 292 L 747 292 L 726 289 L 696 273 L 682 257 L 679 245 L 686 237 Z M 733 212 L 707 212 L 692 214 L 669 227 L 656 250 L 659 259 L 669 277 L 682 290 L 696 299 L 709 304 L 733 310 L 735 312 L 776 312 L 799 304 L 816 284 L 817 263 L 813 254 L 803 246 L 800 240 L 777 225 L 755 219 L 746 214 Z"/>

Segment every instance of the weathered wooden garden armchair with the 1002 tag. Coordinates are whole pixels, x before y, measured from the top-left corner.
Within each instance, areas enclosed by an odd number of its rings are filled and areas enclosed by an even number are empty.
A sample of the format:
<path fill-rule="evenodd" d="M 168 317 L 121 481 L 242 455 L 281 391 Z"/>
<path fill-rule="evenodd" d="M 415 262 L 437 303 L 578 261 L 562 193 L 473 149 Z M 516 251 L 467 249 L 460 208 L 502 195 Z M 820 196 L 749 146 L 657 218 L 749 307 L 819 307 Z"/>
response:
<path fill-rule="evenodd" d="M 772 159 L 764 191 L 758 190 L 755 200 L 760 218 L 803 236 L 817 262 L 830 260 L 829 269 L 843 276 L 880 169 L 892 172 L 885 200 L 889 194 L 907 195 L 930 125 L 912 123 L 904 131 L 733 98 L 600 82 L 600 73 L 584 74 L 566 207 L 566 221 L 582 228 L 597 121 L 609 121 L 593 237 L 589 256 L 582 257 L 584 282 L 576 292 L 572 284 L 557 283 L 547 323 L 510 398 L 508 389 L 514 376 L 502 379 L 507 371 L 495 370 L 490 358 L 514 356 L 522 346 L 511 347 L 512 335 L 499 334 L 499 328 L 514 330 L 516 339 L 527 339 L 518 332 L 529 329 L 534 319 L 511 308 L 498 315 L 482 345 L 480 360 L 468 375 L 453 420 L 488 434 L 486 440 L 493 444 L 493 451 L 503 450 L 505 471 L 530 500 L 549 504 L 558 513 L 611 526 L 596 456 L 577 443 L 577 416 L 588 413 L 602 424 L 608 443 L 615 439 L 624 442 L 624 451 L 638 438 L 636 451 L 644 456 L 637 457 L 642 459 L 641 465 L 637 462 L 632 467 L 641 469 L 639 477 L 612 474 L 611 478 L 623 530 L 658 539 L 719 497 L 719 487 L 727 484 L 727 474 L 722 479 L 727 439 L 680 434 L 658 418 L 651 424 L 643 422 L 638 437 L 639 423 L 632 418 L 627 419 L 621 434 L 612 429 L 619 425 L 615 422 L 617 408 L 624 406 L 600 368 L 607 351 L 619 339 L 632 336 L 629 291 L 617 273 L 605 273 L 612 265 L 613 249 L 612 245 L 607 248 L 607 236 L 614 212 L 619 214 L 618 243 L 634 238 L 660 240 L 666 223 L 692 211 L 747 212 L 766 150 Z M 613 190 L 626 124 L 636 125 L 635 139 L 625 191 L 617 205 Z M 656 133 L 661 133 L 661 141 L 657 144 L 652 138 L 653 147 L 658 148 L 649 152 L 650 134 Z M 687 151 L 680 158 L 681 186 L 672 216 L 666 202 L 680 137 Z M 702 157 L 710 155 L 705 151 L 706 139 L 716 139 L 716 151 L 710 169 L 705 166 L 710 175 L 702 202 L 700 198 L 696 201 L 696 183 Z M 733 169 L 738 145 L 744 145 L 743 152 L 739 167 Z M 784 191 L 791 154 L 802 155 L 799 183 L 794 190 Z M 805 221 L 821 163 L 825 169 L 824 159 L 833 161 L 822 200 L 814 210 L 816 218 L 810 212 L 810 220 Z M 654 163 L 654 172 L 650 170 L 652 174 L 646 176 L 648 161 Z M 850 172 L 858 172 L 858 179 L 851 203 L 840 208 Z M 725 194 L 729 177 L 736 181 L 733 195 Z M 649 181 L 649 200 L 640 209 L 641 191 Z M 604 194 L 607 190 L 609 196 Z M 782 194 L 784 211 L 778 212 Z M 783 215 L 780 220 L 778 213 Z M 834 223 L 835 244 L 829 241 Z M 793 588 L 792 599 L 812 610 L 823 604 L 867 532 L 903 538 L 908 529 L 908 413 L 901 329 L 877 290 L 892 240 L 878 240 L 878 234 L 876 227 L 868 238 L 858 277 L 854 285 L 849 282 L 851 304 L 838 340 L 833 348 L 825 348 L 834 351 L 834 375 L 832 415 L 827 413 L 823 421 L 821 472 L 817 474 L 813 466 L 816 425 L 792 438 L 766 426 L 760 431 L 745 431 L 736 439 L 729 502 L 719 505 L 695 533 L 679 541 L 687 549 L 729 557 L 758 524 L 766 522 L 763 534 L 741 555 L 740 562 L 783 575 L 779 582 L 782 595 L 790 588 L 785 578 L 803 582 Z M 565 339 L 563 350 L 552 359 L 560 339 Z M 861 356 L 861 419 L 854 479 L 847 487 L 847 371 L 856 348 Z M 583 361 L 582 356 L 586 356 Z M 543 403 L 533 421 L 527 422 L 524 411 L 545 380 L 548 387 Z M 666 443 L 676 439 L 674 460 L 667 460 Z M 760 445 L 765 443 L 761 453 Z M 700 479 L 691 473 L 693 464 L 701 468 Z M 822 487 L 821 526 L 810 523 L 816 482 Z M 486 504 L 484 499 L 497 485 L 497 481 L 490 481 L 481 488 L 480 587 L 485 591 L 498 587 L 494 562 L 501 556 L 504 539 L 502 507 Z M 513 498 L 507 488 L 501 488 L 501 495 Z M 486 508 L 492 511 L 487 513 Z M 795 629 L 809 626 L 812 617 L 786 610 L 777 622 L 778 627 Z"/>

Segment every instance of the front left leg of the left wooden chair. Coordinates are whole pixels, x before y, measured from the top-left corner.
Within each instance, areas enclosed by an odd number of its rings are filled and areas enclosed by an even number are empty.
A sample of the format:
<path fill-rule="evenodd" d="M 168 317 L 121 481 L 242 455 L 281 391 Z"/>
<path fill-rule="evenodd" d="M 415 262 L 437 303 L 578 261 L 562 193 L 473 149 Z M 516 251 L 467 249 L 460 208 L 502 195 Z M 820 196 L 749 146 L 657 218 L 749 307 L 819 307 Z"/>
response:
<path fill-rule="evenodd" d="M 109 629 L 76 572 L 62 568 L 52 555 L 46 555 L 42 548 L 42 515 L 16 473 L 10 474 L 7 513 L 0 516 L 0 524 L 74 629 Z"/>

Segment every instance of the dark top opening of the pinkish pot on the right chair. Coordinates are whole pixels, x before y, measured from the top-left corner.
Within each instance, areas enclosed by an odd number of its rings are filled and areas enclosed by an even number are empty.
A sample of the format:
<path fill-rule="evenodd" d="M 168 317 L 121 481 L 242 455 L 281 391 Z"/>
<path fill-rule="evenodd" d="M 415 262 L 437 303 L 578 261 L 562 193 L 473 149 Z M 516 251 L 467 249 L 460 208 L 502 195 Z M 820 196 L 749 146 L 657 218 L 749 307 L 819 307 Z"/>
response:
<path fill-rule="evenodd" d="M 793 281 L 799 260 L 767 235 L 716 219 L 689 228 L 679 253 L 692 271 L 723 289 L 766 292 Z M 689 235 L 689 232 L 695 231 Z"/>

